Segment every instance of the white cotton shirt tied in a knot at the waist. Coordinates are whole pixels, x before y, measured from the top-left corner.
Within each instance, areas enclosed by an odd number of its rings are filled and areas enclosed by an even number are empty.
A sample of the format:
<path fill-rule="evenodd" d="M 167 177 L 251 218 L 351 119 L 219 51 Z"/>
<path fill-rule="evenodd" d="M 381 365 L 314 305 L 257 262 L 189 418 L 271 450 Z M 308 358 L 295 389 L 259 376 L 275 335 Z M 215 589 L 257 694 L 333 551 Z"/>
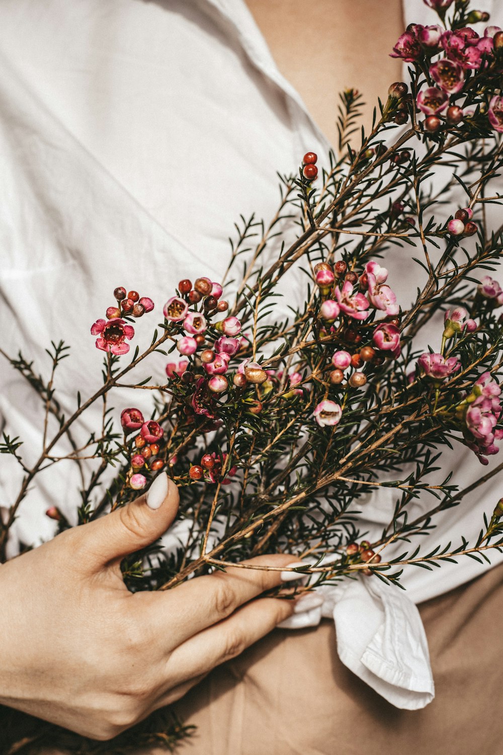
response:
<path fill-rule="evenodd" d="M 503 25 L 501 3 L 492 5 L 491 23 Z M 405 13 L 407 23 L 434 23 L 420 0 L 407 0 Z M 387 87 L 383 82 L 383 92 Z M 44 348 L 63 338 L 72 356 L 61 365 L 56 387 L 67 413 L 77 390 L 90 395 L 100 384 L 102 355 L 89 328 L 112 304 L 112 289 L 137 288 L 155 300 L 155 314 L 136 328 L 141 347 L 180 278 L 221 278 L 234 220 L 253 211 L 271 217 L 278 205 L 275 171 L 295 171 L 308 149 L 321 165 L 327 162 L 327 140 L 278 72 L 243 0 L 2 0 L 2 348 L 13 355 L 22 350 L 35 371 L 47 375 Z M 406 248 L 386 257 L 403 306 L 419 285 L 408 254 Z M 291 275 L 283 290 L 300 300 L 304 287 L 302 277 Z M 278 316 L 287 304 L 278 304 Z M 428 334 L 433 346 L 438 327 L 432 324 Z M 165 361 L 155 355 L 136 379 L 161 376 Z M 134 404 L 149 414 L 149 398 L 135 392 Z M 112 396 L 110 405 L 119 411 L 127 398 Z M 96 405 L 75 428 L 79 443 L 99 426 L 101 411 Z M 27 461 L 34 461 L 41 450 L 40 401 L 5 364 L 0 414 L 5 432 L 20 436 Z M 63 455 L 69 447 L 62 441 L 54 451 Z M 461 445 L 443 459 L 439 479 L 451 468 L 459 485 L 481 474 Z M 21 477 L 13 460 L 2 457 L 5 507 Z M 80 485 L 69 461 L 41 473 L 20 507 L 11 553 L 20 543 L 51 537 L 49 506 L 73 518 Z M 422 547 L 459 544 L 462 534 L 474 538 L 499 488 L 494 478 L 438 516 Z M 416 501 L 411 516 L 428 510 L 431 500 Z M 369 538 L 388 523 L 394 501 L 387 488 L 355 502 Z M 492 563 L 501 558 L 493 553 Z M 465 558 L 433 573 L 406 569 L 406 593 L 377 578 L 324 587 L 324 606 L 296 615 L 295 622 L 311 626 L 333 615 L 342 661 L 397 707 L 422 707 L 434 688 L 414 604 L 488 568 Z"/>

